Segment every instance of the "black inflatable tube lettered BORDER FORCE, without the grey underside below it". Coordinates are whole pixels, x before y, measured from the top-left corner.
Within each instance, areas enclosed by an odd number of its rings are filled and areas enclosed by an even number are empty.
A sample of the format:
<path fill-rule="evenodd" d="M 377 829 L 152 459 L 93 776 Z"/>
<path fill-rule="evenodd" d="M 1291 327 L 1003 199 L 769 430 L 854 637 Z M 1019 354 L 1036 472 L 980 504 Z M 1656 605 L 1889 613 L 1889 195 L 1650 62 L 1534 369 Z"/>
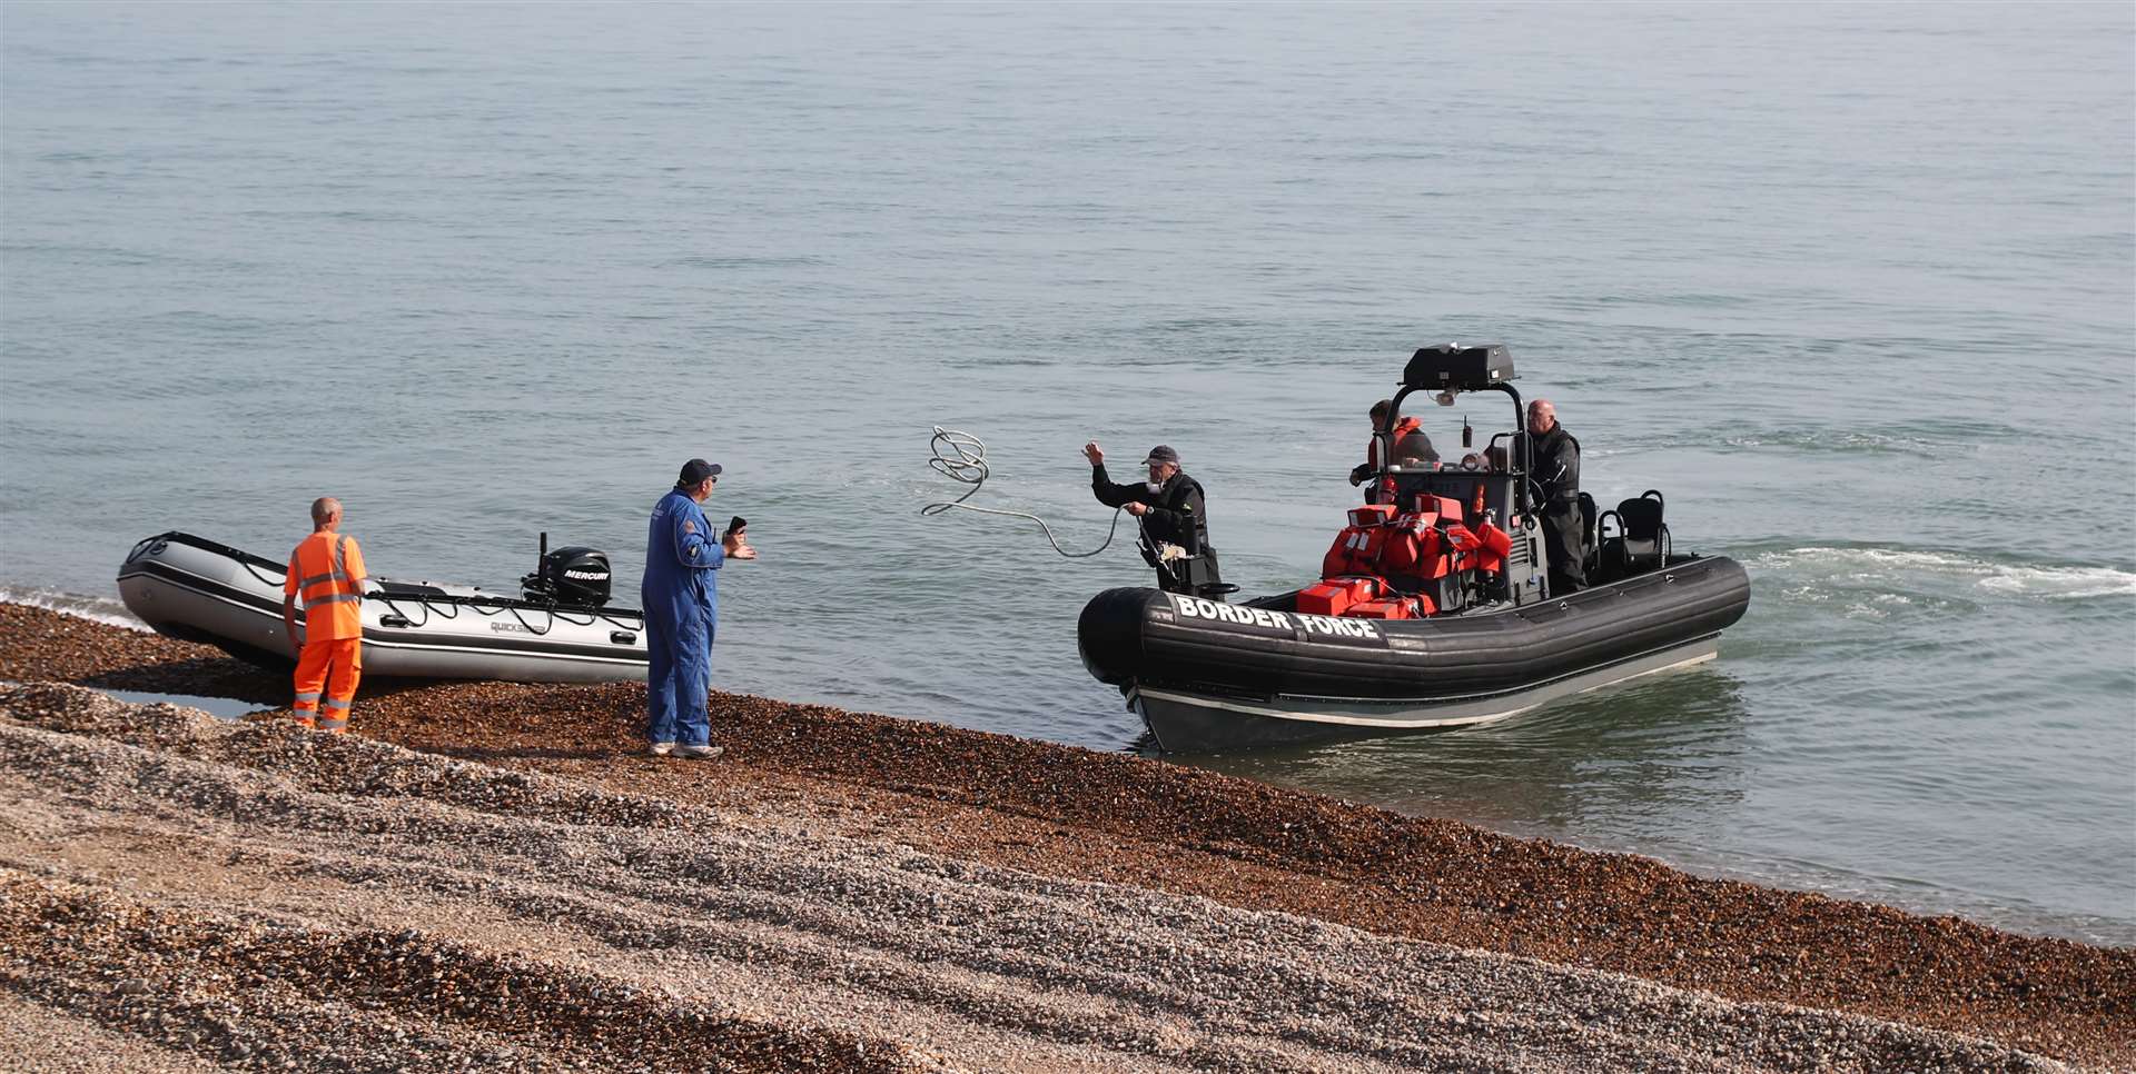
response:
<path fill-rule="evenodd" d="M 1181 617 L 1156 589 L 1106 589 L 1083 606 L 1083 666 L 1111 685 L 1168 685 L 1269 698 L 1448 698 L 1519 690 L 1711 636 L 1749 606 L 1749 574 L 1726 557 L 1679 562 L 1561 600 L 1474 615 L 1373 621 L 1384 645 L 1299 628 L 1294 594 L 1247 606 L 1292 630 Z"/>

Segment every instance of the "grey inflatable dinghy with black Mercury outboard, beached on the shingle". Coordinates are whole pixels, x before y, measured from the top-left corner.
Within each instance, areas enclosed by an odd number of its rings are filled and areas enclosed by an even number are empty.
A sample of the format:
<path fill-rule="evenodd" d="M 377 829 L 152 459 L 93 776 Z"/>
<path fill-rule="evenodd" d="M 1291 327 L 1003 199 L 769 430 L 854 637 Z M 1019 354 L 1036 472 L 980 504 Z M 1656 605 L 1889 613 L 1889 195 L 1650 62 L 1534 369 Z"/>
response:
<path fill-rule="evenodd" d="M 156 534 L 126 553 L 120 598 L 158 634 L 241 660 L 295 664 L 282 628 L 284 564 L 192 534 Z M 611 609 L 609 557 L 547 549 L 519 596 L 472 585 L 372 579 L 363 594 L 363 675 L 602 683 L 645 679 L 645 615 Z M 303 611 L 297 611 L 303 641 Z"/>

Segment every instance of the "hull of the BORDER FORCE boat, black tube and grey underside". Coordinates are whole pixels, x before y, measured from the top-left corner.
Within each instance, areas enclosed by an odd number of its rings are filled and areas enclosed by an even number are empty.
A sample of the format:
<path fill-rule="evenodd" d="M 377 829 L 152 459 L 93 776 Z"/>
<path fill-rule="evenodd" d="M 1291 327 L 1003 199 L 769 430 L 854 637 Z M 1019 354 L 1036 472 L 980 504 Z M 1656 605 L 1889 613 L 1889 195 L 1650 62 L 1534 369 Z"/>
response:
<path fill-rule="evenodd" d="M 1247 604 L 1109 589 L 1079 621 L 1083 664 L 1168 752 L 1474 726 L 1713 660 L 1749 606 L 1724 557 L 1561 600 L 1431 619 L 1326 619 L 1294 594 Z"/>

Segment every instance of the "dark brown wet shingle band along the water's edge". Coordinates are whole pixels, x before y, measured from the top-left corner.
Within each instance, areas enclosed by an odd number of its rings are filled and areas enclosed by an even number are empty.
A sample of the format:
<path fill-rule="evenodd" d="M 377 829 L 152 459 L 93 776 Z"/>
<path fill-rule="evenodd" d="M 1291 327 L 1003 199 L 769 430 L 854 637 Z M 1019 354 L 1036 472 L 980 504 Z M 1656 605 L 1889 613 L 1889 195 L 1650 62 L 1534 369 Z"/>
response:
<path fill-rule="evenodd" d="M 0 606 L 0 677 L 286 698 L 280 677 L 214 649 L 23 606 Z M 2136 1055 L 2136 952 L 2121 948 L 1698 880 L 1636 856 L 1399 818 L 1141 758 L 763 698 L 716 700 L 728 758 L 698 767 L 632 756 L 641 692 L 628 685 L 376 694 L 367 685 L 357 730 L 724 809 L 760 828 L 1203 895 L 2076 1061 L 2130 1065 Z"/>

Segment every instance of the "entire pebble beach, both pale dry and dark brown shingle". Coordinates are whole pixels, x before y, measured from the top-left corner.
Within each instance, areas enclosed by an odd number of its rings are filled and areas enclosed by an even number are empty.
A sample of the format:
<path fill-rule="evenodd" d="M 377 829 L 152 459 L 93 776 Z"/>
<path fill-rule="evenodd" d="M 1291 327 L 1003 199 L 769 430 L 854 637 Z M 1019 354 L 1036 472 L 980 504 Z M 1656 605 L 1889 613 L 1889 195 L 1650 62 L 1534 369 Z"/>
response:
<path fill-rule="evenodd" d="M 2136 950 L 756 696 L 365 681 L 0 604 L 26 1070 L 2130 1070 Z M 105 690 L 239 698 L 222 720 Z"/>

